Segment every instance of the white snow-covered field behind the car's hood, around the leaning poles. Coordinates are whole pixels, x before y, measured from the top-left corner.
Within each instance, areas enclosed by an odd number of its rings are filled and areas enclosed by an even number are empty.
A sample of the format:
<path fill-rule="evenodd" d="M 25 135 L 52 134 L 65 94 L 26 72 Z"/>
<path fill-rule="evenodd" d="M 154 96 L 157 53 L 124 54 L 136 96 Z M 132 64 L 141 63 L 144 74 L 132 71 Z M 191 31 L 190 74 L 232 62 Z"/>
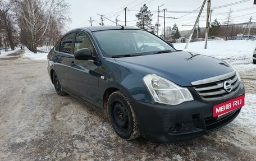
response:
<path fill-rule="evenodd" d="M 253 50 L 256 47 L 255 40 L 212 40 L 208 41 L 207 49 L 204 49 L 204 43 L 205 42 L 189 43 L 187 49 L 184 49 L 186 43 L 173 45 L 179 50 L 186 50 L 220 59 L 252 59 Z"/>

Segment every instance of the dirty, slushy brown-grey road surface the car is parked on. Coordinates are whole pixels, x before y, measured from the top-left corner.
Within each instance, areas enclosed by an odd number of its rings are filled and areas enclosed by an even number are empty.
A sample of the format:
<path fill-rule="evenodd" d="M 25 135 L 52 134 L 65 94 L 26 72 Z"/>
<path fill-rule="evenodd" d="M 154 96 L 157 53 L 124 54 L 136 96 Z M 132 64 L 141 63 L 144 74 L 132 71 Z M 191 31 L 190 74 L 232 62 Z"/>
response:
<path fill-rule="evenodd" d="M 56 94 L 47 61 L 20 52 L 0 58 L 0 160 L 256 160 L 255 125 L 240 116 L 212 134 L 175 144 L 122 140 L 99 113 Z"/>

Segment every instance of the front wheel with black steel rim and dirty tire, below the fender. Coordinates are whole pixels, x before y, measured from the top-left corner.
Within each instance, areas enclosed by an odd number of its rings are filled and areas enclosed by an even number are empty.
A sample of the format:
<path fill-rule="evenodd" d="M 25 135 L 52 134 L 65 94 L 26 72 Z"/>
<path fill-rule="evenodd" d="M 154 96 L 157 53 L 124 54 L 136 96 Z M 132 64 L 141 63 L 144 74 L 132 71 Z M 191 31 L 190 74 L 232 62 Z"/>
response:
<path fill-rule="evenodd" d="M 121 91 L 115 91 L 109 96 L 107 108 L 109 121 L 117 135 L 126 140 L 140 136 L 134 110 Z"/>

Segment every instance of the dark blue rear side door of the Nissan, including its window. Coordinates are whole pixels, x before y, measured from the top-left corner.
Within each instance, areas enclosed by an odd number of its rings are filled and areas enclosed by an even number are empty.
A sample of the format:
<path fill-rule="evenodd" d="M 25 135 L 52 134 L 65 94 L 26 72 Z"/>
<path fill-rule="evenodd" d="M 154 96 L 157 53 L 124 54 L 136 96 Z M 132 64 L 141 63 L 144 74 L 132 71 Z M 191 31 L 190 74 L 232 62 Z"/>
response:
<path fill-rule="evenodd" d="M 54 70 L 60 80 L 63 89 L 71 91 L 71 80 L 70 80 L 70 58 L 74 58 L 74 44 L 75 32 L 67 34 L 61 41 L 56 45 L 54 50 Z"/>

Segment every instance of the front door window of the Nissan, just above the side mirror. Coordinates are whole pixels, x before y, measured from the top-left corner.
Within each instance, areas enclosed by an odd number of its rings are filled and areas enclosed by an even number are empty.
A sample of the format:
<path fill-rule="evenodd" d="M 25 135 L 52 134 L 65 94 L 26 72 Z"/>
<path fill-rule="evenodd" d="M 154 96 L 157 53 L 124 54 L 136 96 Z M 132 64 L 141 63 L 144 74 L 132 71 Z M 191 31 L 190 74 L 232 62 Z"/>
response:
<path fill-rule="evenodd" d="M 95 54 L 95 49 L 93 43 L 91 42 L 89 36 L 83 32 L 76 33 L 74 52 L 79 49 L 89 48 L 93 54 Z"/>

